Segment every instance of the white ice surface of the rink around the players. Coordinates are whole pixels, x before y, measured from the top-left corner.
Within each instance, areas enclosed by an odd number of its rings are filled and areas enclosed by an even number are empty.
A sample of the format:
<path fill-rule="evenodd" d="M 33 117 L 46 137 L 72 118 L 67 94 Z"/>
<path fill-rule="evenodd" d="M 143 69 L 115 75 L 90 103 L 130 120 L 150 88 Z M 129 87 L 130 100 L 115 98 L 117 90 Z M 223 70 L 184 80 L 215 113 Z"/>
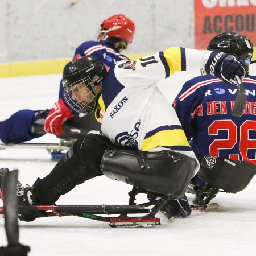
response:
<path fill-rule="evenodd" d="M 253 66 L 253 65 L 252 65 Z M 255 64 L 256 68 L 256 64 Z M 251 73 L 253 69 L 251 69 Z M 161 88 L 170 102 L 181 85 L 200 72 L 177 72 L 162 82 Z M 0 120 L 20 109 L 51 108 L 57 100 L 61 75 L 14 77 L 0 79 Z M 31 142 L 59 142 L 47 134 Z M 46 150 L 0 150 L 0 167 L 18 168 L 19 180 L 32 185 L 36 177 L 46 176 L 56 162 Z M 162 213 L 156 217 L 162 225 L 156 228 L 113 229 L 108 223 L 80 217 L 48 217 L 33 222 L 19 222 L 20 243 L 29 245 L 30 256 L 198 256 L 255 255 L 256 251 L 256 179 L 236 195 L 218 193 L 211 203 L 217 210 L 193 210 L 185 219 L 168 222 Z M 62 196 L 57 204 L 127 204 L 131 185 L 96 177 L 78 185 Z M 193 196 L 188 194 L 192 204 Z M 137 196 L 137 203 L 146 202 Z M 0 220 L 0 246 L 6 246 L 3 218 Z"/>

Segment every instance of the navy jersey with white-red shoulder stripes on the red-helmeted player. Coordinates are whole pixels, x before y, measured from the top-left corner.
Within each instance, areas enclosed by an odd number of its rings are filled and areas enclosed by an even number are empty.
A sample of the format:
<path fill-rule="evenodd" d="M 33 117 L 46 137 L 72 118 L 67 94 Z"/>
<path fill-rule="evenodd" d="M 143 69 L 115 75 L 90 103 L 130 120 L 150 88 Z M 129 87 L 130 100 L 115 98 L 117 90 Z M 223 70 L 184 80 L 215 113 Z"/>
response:
<path fill-rule="evenodd" d="M 110 42 L 109 40 L 101 40 L 100 42 L 88 41 L 80 44 L 80 46 L 76 48 L 73 59 L 69 61 L 67 65 L 65 65 L 63 73 L 73 63 L 73 61 L 85 55 L 93 55 L 100 59 L 105 64 L 107 71 L 109 71 L 111 68 L 114 68 L 115 64 L 120 60 L 129 60 L 125 55 L 120 54 L 119 50 L 114 48 L 114 43 Z M 63 91 L 64 88 L 61 80 L 59 98 L 62 98 L 63 102 L 65 102 Z M 72 112 L 75 112 L 75 110 L 72 110 Z M 75 114 L 79 113 L 77 112 Z"/>

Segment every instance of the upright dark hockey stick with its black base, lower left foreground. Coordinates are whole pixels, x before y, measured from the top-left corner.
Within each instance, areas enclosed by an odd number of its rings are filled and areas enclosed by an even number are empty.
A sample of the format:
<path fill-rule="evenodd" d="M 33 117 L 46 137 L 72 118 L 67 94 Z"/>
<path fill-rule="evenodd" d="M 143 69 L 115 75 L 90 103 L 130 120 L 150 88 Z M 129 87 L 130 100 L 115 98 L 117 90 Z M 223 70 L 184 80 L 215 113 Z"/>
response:
<path fill-rule="evenodd" d="M 18 170 L 14 170 L 6 175 L 3 183 L 3 191 L 5 191 L 5 230 L 8 245 L 7 247 L 0 247 L 0 255 L 5 256 L 27 256 L 28 251 L 30 251 L 29 246 L 19 243 L 17 179 Z"/>

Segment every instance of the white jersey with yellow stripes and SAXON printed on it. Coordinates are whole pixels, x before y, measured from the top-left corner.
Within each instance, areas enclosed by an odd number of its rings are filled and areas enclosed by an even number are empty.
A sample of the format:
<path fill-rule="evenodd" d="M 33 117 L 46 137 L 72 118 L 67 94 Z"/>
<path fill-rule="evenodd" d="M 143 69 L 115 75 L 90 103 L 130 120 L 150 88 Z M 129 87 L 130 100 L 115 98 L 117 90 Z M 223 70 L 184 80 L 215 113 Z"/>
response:
<path fill-rule="evenodd" d="M 175 110 L 156 85 L 175 71 L 204 68 L 210 53 L 171 47 L 139 60 L 119 61 L 106 76 L 99 99 L 102 135 L 122 146 L 168 149 L 196 159 Z"/>

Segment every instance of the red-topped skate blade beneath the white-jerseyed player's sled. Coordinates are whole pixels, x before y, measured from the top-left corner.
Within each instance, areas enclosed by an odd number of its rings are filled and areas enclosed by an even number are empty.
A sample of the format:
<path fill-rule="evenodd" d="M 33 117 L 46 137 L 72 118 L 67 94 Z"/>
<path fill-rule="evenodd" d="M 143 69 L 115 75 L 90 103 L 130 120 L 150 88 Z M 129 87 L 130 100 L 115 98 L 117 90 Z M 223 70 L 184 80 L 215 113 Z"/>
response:
<path fill-rule="evenodd" d="M 160 218 L 155 217 L 126 217 L 126 218 L 110 218 L 112 228 L 152 228 L 159 226 Z"/>

